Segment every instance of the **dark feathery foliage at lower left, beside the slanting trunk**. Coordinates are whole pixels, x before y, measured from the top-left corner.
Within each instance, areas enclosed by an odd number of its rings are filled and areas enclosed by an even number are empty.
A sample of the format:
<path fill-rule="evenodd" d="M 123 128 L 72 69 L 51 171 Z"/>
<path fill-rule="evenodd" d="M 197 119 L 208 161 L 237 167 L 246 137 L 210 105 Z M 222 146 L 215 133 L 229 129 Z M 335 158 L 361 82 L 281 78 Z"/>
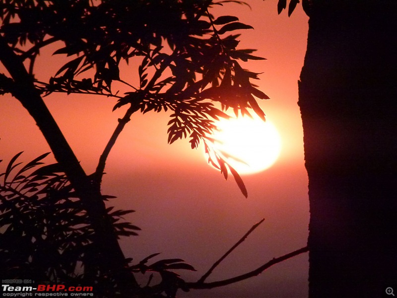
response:
<path fill-rule="evenodd" d="M 16 154 L 0 174 L 0 272 L 3 278 L 63 282 L 106 281 L 97 260 L 93 229 L 59 164 L 26 165 Z M 104 195 L 108 200 L 113 196 Z M 118 236 L 136 235 L 123 220 L 132 210 L 108 209 Z M 113 281 L 107 280 L 108 287 Z"/>

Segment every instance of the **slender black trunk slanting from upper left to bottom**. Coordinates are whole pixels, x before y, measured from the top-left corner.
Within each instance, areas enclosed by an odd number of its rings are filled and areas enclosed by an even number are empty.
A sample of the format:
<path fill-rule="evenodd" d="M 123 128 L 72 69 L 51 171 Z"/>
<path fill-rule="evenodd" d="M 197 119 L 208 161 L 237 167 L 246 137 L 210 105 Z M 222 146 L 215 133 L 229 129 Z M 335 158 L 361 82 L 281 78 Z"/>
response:
<path fill-rule="evenodd" d="M 22 61 L 14 54 L 0 36 L 0 61 L 13 79 L 8 86 L 11 94 L 36 121 L 55 158 L 65 171 L 76 191 L 94 229 L 95 245 L 100 252 L 101 269 L 109 271 L 122 291 L 123 297 L 131 297 L 138 289 L 133 274 L 125 266 L 125 257 L 118 243 L 115 229 L 102 200 L 100 186 L 95 185 L 85 174 L 79 161 L 69 147 L 56 121 L 36 90 L 32 77 Z"/>

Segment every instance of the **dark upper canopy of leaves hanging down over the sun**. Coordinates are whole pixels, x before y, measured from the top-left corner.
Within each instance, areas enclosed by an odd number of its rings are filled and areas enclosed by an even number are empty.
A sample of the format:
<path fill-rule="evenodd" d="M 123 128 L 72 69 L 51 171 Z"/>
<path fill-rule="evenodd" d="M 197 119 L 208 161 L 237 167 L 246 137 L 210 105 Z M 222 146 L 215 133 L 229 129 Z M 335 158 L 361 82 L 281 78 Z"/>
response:
<path fill-rule="evenodd" d="M 265 120 L 256 99 L 268 99 L 251 82 L 259 73 L 241 66 L 264 59 L 253 55 L 253 49 L 238 48 L 240 31 L 253 27 L 236 16 L 215 17 L 209 12 L 224 2 L 244 4 L 237 0 L 2 0 L 0 33 L 28 62 L 32 77 L 43 47 L 57 46 L 53 55 L 68 60 L 49 81 L 35 80 L 43 95 L 105 95 L 118 99 L 114 109 L 171 111 L 170 144 L 189 138 L 192 149 L 202 141 L 211 148 L 214 121 L 228 117 L 222 110 L 250 115 L 252 109 Z M 129 63 L 139 77 L 135 86 L 131 72 L 121 72 Z M 8 90 L 6 79 L 0 77 L 3 93 Z M 119 95 L 111 89 L 115 81 L 130 90 Z"/>

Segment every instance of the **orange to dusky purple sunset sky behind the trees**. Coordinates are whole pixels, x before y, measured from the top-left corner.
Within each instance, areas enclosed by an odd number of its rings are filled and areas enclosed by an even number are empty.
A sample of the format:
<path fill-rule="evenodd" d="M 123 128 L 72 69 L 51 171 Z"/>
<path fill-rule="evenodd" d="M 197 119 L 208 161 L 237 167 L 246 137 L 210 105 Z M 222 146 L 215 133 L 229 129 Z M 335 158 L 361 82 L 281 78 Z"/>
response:
<path fill-rule="evenodd" d="M 165 113 L 134 114 L 105 169 L 103 193 L 118 197 L 112 202 L 116 207 L 135 210 L 127 219 L 142 229 L 139 236 L 121 241 L 126 256 L 137 262 L 157 252 L 161 252 L 159 259 L 182 258 L 198 270 L 179 272 L 187 281 L 199 279 L 263 218 L 265 222 L 221 263 L 208 282 L 246 273 L 306 246 L 308 181 L 297 81 L 306 51 L 308 17 L 299 5 L 288 18 L 286 11 L 277 15 L 277 0 L 248 3 L 251 9 L 226 4 L 212 11 L 215 16 L 237 15 L 241 22 L 252 25 L 255 30 L 241 32 L 240 48 L 258 49 L 255 54 L 267 59 L 243 66 L 263 73 L 255 83 L 270 100 L 261 101 L 260 106 L 277 128 L 282 149 L 269 169 L 242 175 L 248 198 L 232 177 L 225 181 L 208 166 L 202 148 L 192 150 L 188 141 L 167 144 L 169 114 Z M 42 54 L 39 75 L 55 74 L 57 58 Z M 124 110 L 112 113 L 115 101 L 105 97 L 56 94 L 45 102 L 86 172 L 93 172 Z M 27 162 L 49 147 L 23 107 L 3 96 L 0 159 L 7 161 L 22 150 Z M 302 254 L 238 284 L 179 292 L 178 297 L 302 298 L 307 297 L 307 278 L 308 256 Z"/>

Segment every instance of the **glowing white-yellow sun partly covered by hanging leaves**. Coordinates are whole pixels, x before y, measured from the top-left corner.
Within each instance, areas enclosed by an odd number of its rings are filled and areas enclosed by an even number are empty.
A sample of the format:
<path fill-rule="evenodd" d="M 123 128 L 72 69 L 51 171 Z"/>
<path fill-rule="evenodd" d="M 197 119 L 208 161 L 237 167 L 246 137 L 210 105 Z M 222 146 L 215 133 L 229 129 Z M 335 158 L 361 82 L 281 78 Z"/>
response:
<path fill-rule="evenodd" d="M 223 156 L 239 174 L 264 171 L 274 164 L 280 155 L 281 138 L 274 125 L 259 117 L 248 116 L 221 119 L 216 122 L 219 131 L 213 149 Z"/>

